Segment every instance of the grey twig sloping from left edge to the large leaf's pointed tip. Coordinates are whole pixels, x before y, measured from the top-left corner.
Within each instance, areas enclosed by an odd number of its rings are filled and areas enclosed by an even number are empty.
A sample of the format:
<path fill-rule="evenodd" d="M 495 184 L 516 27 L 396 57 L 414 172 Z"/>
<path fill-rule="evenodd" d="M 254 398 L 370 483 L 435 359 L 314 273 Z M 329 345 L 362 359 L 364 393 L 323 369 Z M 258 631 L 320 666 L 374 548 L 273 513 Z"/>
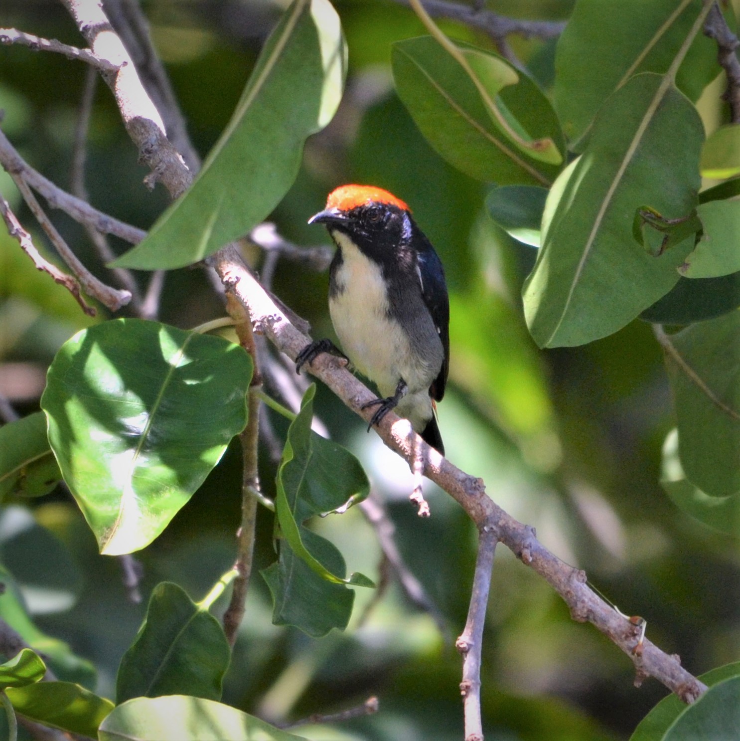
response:
<path fill-rule="evenodd" d="M 132 245 L 138 244 L 147 236 L 143 229 L 114 219 L 113 216 L 93 208 L 84 200 L 54 185 L 24 161 L 2 130 L 0 130 L 0 165 L 11 176 L 20 176 L 33 190 L 41 193 L 51 208 L 59 208 L 79 224 L 93 227 L 105 234 L 114 234 Z"/>

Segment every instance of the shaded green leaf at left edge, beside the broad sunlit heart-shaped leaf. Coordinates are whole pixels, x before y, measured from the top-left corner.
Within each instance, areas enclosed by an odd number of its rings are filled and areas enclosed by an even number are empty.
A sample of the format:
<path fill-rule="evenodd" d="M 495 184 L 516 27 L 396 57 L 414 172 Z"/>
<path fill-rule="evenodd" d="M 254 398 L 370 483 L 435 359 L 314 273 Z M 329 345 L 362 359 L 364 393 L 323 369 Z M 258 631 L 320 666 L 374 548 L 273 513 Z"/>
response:
<path fill-rule="evenodd" d="M 35 412 L 0 427 L 0 498 L 7 494 L 42 496 L 61 479 L 46 417 Z"/>

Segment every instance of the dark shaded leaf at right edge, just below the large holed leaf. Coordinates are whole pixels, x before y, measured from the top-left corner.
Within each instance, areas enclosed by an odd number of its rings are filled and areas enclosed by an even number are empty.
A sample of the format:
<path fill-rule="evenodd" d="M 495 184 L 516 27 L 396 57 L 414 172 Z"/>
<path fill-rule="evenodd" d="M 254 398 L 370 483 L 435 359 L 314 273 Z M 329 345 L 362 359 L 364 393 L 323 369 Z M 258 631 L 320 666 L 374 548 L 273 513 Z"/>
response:
<path fill-rule="evenodd" d="M 640 314 L 656 324 L 715 319 L 740 306 L 740 271 L 721 278 L 680 278 L 663 298 Z"/>

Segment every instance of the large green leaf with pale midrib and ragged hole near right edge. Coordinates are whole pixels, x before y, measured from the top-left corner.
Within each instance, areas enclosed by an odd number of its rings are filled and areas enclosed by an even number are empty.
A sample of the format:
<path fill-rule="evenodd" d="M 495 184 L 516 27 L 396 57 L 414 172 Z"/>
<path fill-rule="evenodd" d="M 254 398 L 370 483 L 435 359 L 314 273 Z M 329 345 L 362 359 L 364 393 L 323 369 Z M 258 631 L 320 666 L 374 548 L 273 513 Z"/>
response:
<path fill-rule="evenodd" d="M 584 154 L 550 190 L 543 246 L 524 284 L 540 347 L 616 332 L 676 285 L 693 242 L 651 256 L 634 239 L 633 219 L 644 205 L 667 219 L 691 213 L 703 136 L 696 109 L 659 75 L 630 79 L 604 104 Z"/>

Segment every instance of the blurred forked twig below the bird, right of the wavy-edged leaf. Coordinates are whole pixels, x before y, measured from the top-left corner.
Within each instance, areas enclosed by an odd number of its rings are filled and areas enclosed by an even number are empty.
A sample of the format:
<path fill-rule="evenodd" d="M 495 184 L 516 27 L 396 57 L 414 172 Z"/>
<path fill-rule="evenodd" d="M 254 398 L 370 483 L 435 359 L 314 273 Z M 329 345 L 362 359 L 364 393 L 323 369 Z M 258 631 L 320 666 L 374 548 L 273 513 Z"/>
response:
<path fill-rule="evenodd" d="M 444 619 L 444 615 L 441 614 L 439 608 L 432 602 L 429 595 L 424 591 L 424 587 L 419 582 L 419 579 L 413 575 L 410 568 L 406 565 L 406 562 L 401 556 L 398 545 L 396 545 L 396 527 L 393 525 L 393 521 L 387 514 L 383 502 L 372 492 L 363 502 L 360 502 L 360 510 L 364 514 L 367 522 L 372 525 L 373 530 L 378 538 L 378 544 L 380 545 L 383 553 L 384 562 L 387 563 L 390 571 L 395 574 L 396 579 L 399 580 L 399 584 L 403 589 L 406 596 L 413 602 L 414 605 L 419 607 L 424 612 L 430 614 L 434 622 L 436 622 L 439 632 L 448 638 L 450 631 L 447 628 L 447 622 Z M 378 600 L 383 596 L 383 584 L 384 581 L 387 583 L 387 579 L 383 578 L 384 569 L 381 568 L 381 584 L 376 590 L 376 594 L 373 595 L 373 599 L 367 604 L 364 613 L 359 619 L 359 623 L 362 624 L 367 619 L 367 614 L 373 609 Z"/>

